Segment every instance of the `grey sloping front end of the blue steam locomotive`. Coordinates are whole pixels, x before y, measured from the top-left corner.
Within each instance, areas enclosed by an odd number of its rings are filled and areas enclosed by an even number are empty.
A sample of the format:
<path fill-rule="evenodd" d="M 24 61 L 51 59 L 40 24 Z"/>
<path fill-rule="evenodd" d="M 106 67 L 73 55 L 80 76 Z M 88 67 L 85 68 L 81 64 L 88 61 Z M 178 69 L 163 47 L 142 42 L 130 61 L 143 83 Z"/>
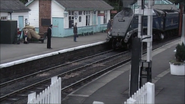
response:
<path fill-rule="evenodd" d="M 111 44 L 113 49 L 127 48 L 130 35 L 127 31 L 134 17 L 134 12 L 131 8 L 123 8 L 113 18 Z"/>

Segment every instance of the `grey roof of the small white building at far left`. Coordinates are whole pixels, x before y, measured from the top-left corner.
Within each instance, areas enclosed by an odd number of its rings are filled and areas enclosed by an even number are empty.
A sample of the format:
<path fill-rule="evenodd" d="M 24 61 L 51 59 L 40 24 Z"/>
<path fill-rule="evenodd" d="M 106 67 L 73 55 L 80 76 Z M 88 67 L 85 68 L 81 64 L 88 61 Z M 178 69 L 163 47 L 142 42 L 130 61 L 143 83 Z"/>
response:
<path fill-rule="evenodd" d="M 0 0 L 0 12 L 28 12 L 30 11 L 19 0 Z"/>

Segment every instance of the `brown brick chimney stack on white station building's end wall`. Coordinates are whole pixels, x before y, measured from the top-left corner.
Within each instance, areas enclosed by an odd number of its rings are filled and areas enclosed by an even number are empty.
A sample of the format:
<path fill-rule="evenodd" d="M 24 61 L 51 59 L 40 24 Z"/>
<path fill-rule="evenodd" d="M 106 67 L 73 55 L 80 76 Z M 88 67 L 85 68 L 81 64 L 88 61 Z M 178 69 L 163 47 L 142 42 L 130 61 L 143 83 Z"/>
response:
<path fill-rule="evenodd" d="M 43 34 L 48 26 L 42 26 L 41 19 L 51 19 L 51 0 L 39 0 L 39 33 Z"/>

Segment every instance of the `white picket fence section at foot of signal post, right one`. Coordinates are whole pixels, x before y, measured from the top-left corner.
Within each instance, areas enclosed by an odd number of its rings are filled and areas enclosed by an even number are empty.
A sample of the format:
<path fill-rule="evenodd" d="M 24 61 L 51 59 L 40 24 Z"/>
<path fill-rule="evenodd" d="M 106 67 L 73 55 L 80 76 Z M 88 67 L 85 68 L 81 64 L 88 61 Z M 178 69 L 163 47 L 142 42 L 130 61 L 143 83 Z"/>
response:
<path fill-rule="evenodd" d="M 134 93 L 124 104 L 154 104 L 155 85 L 147 82 L 136 93 Z"/>

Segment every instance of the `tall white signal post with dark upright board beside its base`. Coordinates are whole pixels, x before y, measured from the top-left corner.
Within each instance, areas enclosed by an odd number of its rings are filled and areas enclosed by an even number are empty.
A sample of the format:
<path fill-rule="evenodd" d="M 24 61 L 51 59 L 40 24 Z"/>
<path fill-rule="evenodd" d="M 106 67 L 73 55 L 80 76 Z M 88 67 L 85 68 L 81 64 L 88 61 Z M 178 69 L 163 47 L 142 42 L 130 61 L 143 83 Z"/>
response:
<path fill-rule="evenodd" d="M 132 41 L 132 58 L 131 58 L 131 76 L 129 95 L 133 95 L 145 82 L 152 81 L 152 22 L 153 12 L 152 6 L 153 0 L 148 0 L 147 8 L 144 8 L 144 0 L 138 0 L 139 12 L 138 12 L 138 38 L 134 38 Z M 147 21 L 147 35 L 143 35 L 142 29 L 142 16 L 148 17 Z M 147 43 L 147 59 L 142 59 L 142 43 Z"/>

